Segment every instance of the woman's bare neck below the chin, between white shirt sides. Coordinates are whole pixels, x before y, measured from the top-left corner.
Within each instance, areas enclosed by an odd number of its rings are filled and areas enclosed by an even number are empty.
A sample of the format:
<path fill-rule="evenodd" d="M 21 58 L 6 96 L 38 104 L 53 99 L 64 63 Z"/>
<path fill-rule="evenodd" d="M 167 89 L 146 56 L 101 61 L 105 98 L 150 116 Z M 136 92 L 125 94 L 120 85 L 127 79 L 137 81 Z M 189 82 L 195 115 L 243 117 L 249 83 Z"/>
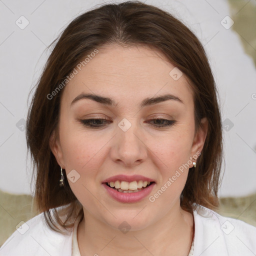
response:
<path fill-rule="evenodd" d="M 143 229 L 127 232 L 112 228 L 88 211 L 83 211 L 84 217 L 77 229 L 81 256 L 187 256 L 189 253 L 193 239 L 193 216 L 180 206 L 172 207 L 164 217 Z"/>

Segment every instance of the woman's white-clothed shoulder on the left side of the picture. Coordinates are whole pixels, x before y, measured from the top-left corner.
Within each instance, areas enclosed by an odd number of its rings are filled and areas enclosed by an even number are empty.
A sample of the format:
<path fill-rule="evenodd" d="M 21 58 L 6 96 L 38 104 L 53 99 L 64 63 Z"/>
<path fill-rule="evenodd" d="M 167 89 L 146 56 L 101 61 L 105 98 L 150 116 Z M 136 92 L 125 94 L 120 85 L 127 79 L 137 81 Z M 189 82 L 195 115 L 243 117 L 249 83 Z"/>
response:
<path fill-rule="evenodd" d="M 0 247 L 0 256 L 71 255 L 72 231 L 50 229 L 43 213 L 24 222 Z"/>

